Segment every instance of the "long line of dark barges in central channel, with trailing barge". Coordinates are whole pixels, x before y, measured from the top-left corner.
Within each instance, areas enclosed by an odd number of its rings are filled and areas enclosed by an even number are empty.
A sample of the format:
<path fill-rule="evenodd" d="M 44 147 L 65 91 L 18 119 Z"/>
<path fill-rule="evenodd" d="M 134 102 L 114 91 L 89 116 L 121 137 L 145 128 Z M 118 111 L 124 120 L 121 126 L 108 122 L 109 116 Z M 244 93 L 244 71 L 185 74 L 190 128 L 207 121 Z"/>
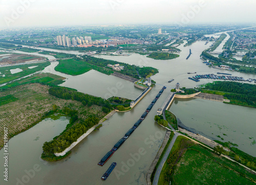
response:
<path fill-rule="evenodd" d="M 103 166 L 108 160 L 109 158 L 115 153 L 115 151 L 120 148 L 120 146 L 126 141 L 127 138 L 129 138 L 134 130 L 141 124 L 141 122 L 145 119 L 145 117 L 147 116 L 147 114 L 151 111 L 151 109 L 153 108 L 154 104 L 156 103 L 156 101 L 158 100 L 158 98 L 161 96 L 161 94 L 163 93 L 164 89 L 166 89 L 166 87 L 164 86 L 159 93 L 157 94 L 157 96 L 155 97 L 155 99 L 151 102 L 151 104 L 147 107 L 146 111 L 141 115 L 140 119 L 138 121 L 136 121 L 136 123 L 133 125 L 132 128 L 130 128 L 125 135 L 114 145 L 114 147 L 105 154 L 105 156 L 103 156 L 103 158 L 101 158 L 100 162 L 98 163 L 99 166 Z M 106 180 L 106 178 L 108 178 L 108 176 L 110 175 L 110 173 L 112 172 L 112 170 L 115 168 L 116 163 L 112 163 L 112 165 L 110 166 L 110 168 L 103 174 L 103 176 L 101 177 L 102 180 Z"/>

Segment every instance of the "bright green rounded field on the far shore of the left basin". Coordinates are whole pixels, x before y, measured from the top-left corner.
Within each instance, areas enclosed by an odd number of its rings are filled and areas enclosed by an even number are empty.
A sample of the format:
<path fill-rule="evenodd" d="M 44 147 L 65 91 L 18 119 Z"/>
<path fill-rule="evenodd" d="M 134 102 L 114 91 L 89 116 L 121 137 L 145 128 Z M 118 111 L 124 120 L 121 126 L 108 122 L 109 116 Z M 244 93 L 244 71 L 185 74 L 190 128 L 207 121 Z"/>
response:
<path fill-rule="evenodd" d="M 93 64 L 84 62 L 79 59 L 67 59 L 67 60 L 60 60 L 59 64 L 55 67 L 56 71 L 65 73 L 65 74 L 70 74 L 70 75 L 79 75 L 86 73 L 90 71 L 91 69 L 94 69 L 96 71 L 102 72 L 104 74 L 110 75 L 113 73 L 113 71 L 109 69 L 104 69 L 99 66 L 95 66 Z"/>

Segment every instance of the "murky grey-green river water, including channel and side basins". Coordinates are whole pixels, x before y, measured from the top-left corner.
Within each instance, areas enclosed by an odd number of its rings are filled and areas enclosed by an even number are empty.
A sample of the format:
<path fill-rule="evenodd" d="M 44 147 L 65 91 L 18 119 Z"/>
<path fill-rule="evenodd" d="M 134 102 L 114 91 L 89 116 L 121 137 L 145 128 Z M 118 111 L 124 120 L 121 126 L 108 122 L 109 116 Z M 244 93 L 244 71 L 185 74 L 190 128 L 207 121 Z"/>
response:
<path fill-rule="evenodd" d="M 205 41 L 198 41 L 187 47 L 181 45 L 179 46 L 182 50 L 179 54 L 180 57 L 165 61 L 150 59 L 139 54 L 132 54 L 129 57 L 95 56 L 138 66 L 155 67 L 159 69 L 159 73 L 152 76 L 153 80 L 158 84 L 166 85 L 167 89 L 142 124 L 103 167 L 98 166 L 97 163 L 140 118 L 162 86 L 154 87 L 130 112 L 116 113 L 109 120 L 106 120 L 103 127 L 81 141 L 65 160 L 55 163 L 40 160 L 43 143 L 50 141 L 65 129 L 68 123 L 65 117 L 58 120 L 46 119 L 24 133 L 13 137 L 9 141 L 9 181 L 3 182 L 1 179 L 1 184 L 23 184 L 21 182 L 24 184 L 54 185 L 146 184 L 145 174 L 154 160 L 165 134 L 165 130 L 154 121 L 156 111 L 161 107 L 170 89 L 174 88 L 176 83 L 180 83 L 181 87 L 192 88 L 213 81 L 204 79 L 196 83 L 188 80 L 188 77 L 193 76 L 193 74 L 187 74 L 187 72 L 199 74 L 221 72 L 221 70 L 209 68 L 200 60 L 201 52 L 210 45 L 211 42 L 205 45 Z M 192 55 L 186 60 L 189 49 L 191 49 Z M 67 77 L 66 82 L 61 86 L 75 88 L 80 92 L 103 98 L 121 96 L 135 99 L 142 92 L 130 82 L 94 70 L 78 76 L 62 74 L 54 70 L 57 64 L 58 62 L 51 63 L 44 72 Z M 228 73 L 243 76 L 246 79 L 256 78 L 256 75 L 252 74 L 233 71 Z M 175 81 L 168 83 L 172 78 Z M 210 139 L 220 140 L 217 137 L 219 135 L 224 139 L 224 142 L 236 143 L 241 150 L 256 156 L 254 145 L 256 138 L 254 131 L 256 130 L 255 109 L 191 98 L 187 100 L 176 99 L 170 107 L 170 111 L 174 112 L 186 127 L 195 129 Z M 138 154 L 139 152 L 141 154 Z M 3 155 L 4 151 L 1 150 L 0 156 Z M 100 177 L 113 162 L 117 163 L 115 170 L 106 181 L 102 181 Z M 0 169 L 4 171 L 3 164 L 0 165 Z M 30 176 L 27 174 L 29 172 Z"/>

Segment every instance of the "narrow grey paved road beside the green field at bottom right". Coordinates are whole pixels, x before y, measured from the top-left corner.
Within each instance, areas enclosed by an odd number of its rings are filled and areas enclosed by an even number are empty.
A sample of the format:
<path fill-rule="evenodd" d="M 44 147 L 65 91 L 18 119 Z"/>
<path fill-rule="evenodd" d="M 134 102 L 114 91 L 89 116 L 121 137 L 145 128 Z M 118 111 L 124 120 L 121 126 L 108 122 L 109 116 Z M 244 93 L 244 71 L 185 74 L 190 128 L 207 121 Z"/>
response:
<path fill-rule="evenodd" d="M 155 177 L 154 177 L 154 180 L 153 180 L 153 185 L 157 185 L 158 184 L 159 176 L 160 176 L 160 173 L 162 171 L 163 165 L 164 165 L 165 161 L 167 160 L 167 157 L 168 157 L 168 155 L 170 153 L 170 150 L 172 150 L 172 148 L 174 146 L 174 143 L 175 143 L 175 141 L 176 141 L 178 136 L 182 136 L 182 134 L 175 133 L 172 141 L 170 142 L 167 150 L 165 151 L 164 156 L 163 156 L 163 158 L 161 160 L 161 163 L 159 164 L 159 166 L 157 168 L 157 171 L 156 171 L 156 174 L 155 174 Z"/>

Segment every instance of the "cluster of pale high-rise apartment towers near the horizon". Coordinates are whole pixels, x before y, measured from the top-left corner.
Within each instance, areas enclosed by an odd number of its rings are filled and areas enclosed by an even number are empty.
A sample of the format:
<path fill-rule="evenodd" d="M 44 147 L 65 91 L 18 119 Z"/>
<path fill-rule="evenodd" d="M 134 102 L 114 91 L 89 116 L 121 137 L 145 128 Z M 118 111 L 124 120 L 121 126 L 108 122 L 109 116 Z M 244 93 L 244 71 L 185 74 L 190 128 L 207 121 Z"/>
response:
<path fill-rule="evenodd" d="M 71 41 L 72 41 L 72 44 L 71 44 Z M 62 46 L 68 46 L 68 47 L 71 47 L 71 46 L 77 46 L 77 45 L 81 45 L 81 44 L 90 44 L 92 43 L 92 37 L 89 37 L 89 36 L 85 36 L 85 37 L 73 37 L 72 40 L 63 35 L 63 36 L 57 36 L 57 43 L 58 45 L 62 45 Z"/>

